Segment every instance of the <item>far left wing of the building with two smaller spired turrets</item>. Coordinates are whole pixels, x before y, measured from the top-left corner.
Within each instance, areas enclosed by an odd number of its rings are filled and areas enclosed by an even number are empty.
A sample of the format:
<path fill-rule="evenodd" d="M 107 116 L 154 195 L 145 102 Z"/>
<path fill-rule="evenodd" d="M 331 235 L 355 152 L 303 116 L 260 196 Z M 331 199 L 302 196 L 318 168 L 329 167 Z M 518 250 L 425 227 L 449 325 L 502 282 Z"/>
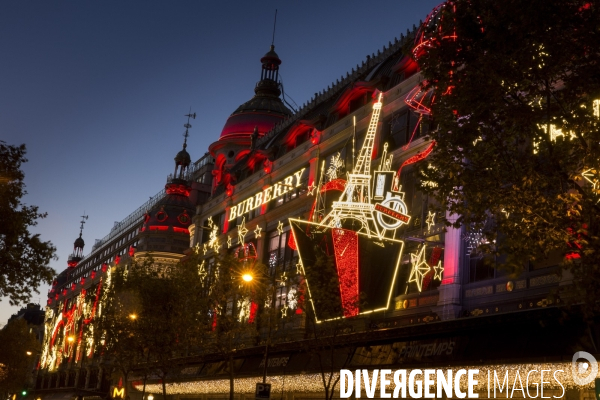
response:
<path fill-rule="evenodd" d="M 186 128 L 191 127 L 188 123 Z M 187 129 L 186 129 L 187 140 Z M 165 188 L 96 240 L 84 256 L 81 221 L 68 267 L 48 292 L 44 341 L 37 366 L 36 398 L 73 399 L 106 397 L 111 382 L 94 353 L 94 319 L 102 312 L 102 299 L 110 287 L 112 271 L 129 258 L 152 253 L 163 266 L 174 265 L 189 248 L 189 226 L 195 205 L 210 194 L 214 160 L 206 154 L 191 163 L 183 149 L 175 157 L 175 171 Z M 96 354 L 96 355 L 94 355 Z"/>

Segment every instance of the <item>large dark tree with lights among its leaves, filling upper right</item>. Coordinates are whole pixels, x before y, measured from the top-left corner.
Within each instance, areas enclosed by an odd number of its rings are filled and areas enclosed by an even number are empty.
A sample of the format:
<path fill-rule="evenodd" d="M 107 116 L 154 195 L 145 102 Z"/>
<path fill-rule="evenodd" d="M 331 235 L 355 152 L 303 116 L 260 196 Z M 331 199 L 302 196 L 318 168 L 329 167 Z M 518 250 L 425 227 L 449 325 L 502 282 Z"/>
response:
<path fill-rule="evenodd" d="M 456 0 L 428 22 L 414 54 L 435 92 L 423 190 L 513 272 L 558 257 L 598 311 L 598 3 Z"/>

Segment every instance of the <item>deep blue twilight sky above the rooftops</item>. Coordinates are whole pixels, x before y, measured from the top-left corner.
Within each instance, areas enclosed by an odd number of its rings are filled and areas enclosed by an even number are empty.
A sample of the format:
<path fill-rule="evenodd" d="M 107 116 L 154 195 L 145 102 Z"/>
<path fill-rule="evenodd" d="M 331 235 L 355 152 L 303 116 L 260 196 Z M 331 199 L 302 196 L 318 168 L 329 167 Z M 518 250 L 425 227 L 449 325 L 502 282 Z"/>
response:
<path fill-rule="evenodd" d="M 0 3 L 0 140 L 25 143 L 33 231 L 66 267 L 80 216 L 85 254 L 173 171 L 190 107 L 193 160 L 218 139 L 275 49 L 298 105 L 425 19 L 441 0 Z M 34 302 L 46 301 L 42 286 Z M 0 302 L 0 324 L 18 310 Z"/>

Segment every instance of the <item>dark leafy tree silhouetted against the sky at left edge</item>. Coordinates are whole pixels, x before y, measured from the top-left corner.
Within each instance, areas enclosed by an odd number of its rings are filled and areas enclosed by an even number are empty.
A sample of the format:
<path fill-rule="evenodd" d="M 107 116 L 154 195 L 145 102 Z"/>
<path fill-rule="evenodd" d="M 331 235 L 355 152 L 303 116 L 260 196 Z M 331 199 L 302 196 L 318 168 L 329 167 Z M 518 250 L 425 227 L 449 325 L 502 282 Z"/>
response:
<path fill-rule="evenodd" d="M 21 202 L 27 194 L 21 171 L 25 153 L 24 144 L 0 141 L 0 297 L 8 296 L 12 305 L 28 302 L 40 283 L 52 282 L 55 271 L 49 262 L 57 259 L 52 243 L 29 232 L 46 213 Z"/>

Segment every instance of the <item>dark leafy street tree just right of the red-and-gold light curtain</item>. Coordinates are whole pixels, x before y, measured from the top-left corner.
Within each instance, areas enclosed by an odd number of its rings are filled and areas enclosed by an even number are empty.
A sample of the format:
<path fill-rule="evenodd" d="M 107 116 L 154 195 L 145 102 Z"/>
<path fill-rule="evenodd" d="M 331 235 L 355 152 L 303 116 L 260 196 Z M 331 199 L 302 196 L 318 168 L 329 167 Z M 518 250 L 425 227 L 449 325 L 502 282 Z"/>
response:
<path fill-rule="evenodd" d="M 143 352 L 146 368 L 157 372 L 166 399 L 167 380 L 181 367 L 178 358 L 197 351 L 208 330 L 198 266 L 180 262 L 164 268 L 147 260 L 129 268 L 123 288 L 137 310 L 123 334 Z"/>

